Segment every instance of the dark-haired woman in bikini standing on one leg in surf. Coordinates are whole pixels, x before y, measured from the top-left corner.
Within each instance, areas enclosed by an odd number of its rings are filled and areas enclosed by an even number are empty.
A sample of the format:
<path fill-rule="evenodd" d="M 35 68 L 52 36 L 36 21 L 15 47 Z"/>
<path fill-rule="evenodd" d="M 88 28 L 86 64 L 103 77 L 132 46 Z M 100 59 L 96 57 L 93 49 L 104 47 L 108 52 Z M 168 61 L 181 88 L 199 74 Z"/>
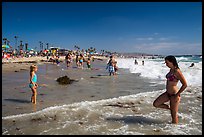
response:
<path fill-rule="evenodd" d="M 172 123 L 178 124 L 178 105 L 180 102 L 180 94 L 187 87 L 187 82 L 178 67 L 178 63 L 174 56 L 165 57 L 166 66 L 170 68 L 167 73 L 166 92 L 161 94 L 153 103 L 154 107 L 169 109 L 171 111 Z M 182 86 L 180 89 L 177 87 L 177 83 L 180 80 Z M 170 106 L 164 104 L 170 101 Z"/>

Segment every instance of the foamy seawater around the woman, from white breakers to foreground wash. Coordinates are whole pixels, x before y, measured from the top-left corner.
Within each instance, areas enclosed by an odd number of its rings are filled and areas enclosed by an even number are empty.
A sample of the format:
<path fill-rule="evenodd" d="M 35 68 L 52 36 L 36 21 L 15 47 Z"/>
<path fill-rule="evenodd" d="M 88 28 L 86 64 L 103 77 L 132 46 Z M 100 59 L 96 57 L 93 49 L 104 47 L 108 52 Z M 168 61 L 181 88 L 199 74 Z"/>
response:
<path fill-rule="evenodd" d="M 144 66 L 141 65 L 142 59 L 138 59 L 138 65 L 134 64 L 133 59 L 117 61 L 120 68 L 153 80 L 150 86 L 158 81 L 164 83 L 169 71 L 162 59 L 145 59 Z M 145 93 L 82 101 L 52 106 L 33 113 L 5 116 L 2 117 L 2 122 L 6 125 L 3 124 L 2 134 L 201 135 L 202 62 L 195 63 L 193 68 L 188 67 L 190 64 L 191 62 L 179 62 L 188 88 L 182 93 L 178 125 L 170 124 L 169 111 L 152 105 L 165 89 L 149 89 Z"/>

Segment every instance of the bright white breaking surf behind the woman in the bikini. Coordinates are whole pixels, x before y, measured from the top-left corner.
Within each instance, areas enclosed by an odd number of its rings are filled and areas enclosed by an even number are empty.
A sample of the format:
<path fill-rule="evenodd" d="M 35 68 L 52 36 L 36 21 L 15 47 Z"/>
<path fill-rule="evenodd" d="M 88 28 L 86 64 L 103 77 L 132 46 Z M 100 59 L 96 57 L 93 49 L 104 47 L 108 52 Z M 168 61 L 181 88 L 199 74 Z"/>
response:
<path fill-rule="evenodd" d="M 144 65 L 142 65 L 144 60 Z M 179 68 L 181 69 L 184 77 L 189 86 L 202 86 L 202 62 L 194 63 L 194 67 L 189 67 L 192 62 L 185 62 L 188 60 L 185 57 L 178 59 Z M 181 61 L 182 60 L 182 61 Z M 129 69 L 130 73 L 139 73 L 141 77 L 149 79 L 158 79 L 164 82 L 166 80 L 165 75 L 168 73 L 169 68 L 165 65 L 164 60 L 152 60 L 152 59 L 137 59 L 138 65 L 134 64 L 133 58 L 118 58 L 117 64 L 119 68 Z M 181 83 L 179 83 L 181 85 Z"/>

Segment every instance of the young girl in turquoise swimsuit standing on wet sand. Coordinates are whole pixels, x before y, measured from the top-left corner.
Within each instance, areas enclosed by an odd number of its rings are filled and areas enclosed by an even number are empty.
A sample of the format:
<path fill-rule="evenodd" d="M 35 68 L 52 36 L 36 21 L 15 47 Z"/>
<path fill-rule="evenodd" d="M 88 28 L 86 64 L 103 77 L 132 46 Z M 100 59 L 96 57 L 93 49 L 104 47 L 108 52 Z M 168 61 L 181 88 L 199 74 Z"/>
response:
<path fill-rule="evenodd" d="M 38 67 L 36 65 L 31 65 L 30 66 L 30 84 L 29 87 L 31 88 L 32 91 L 32 96 L 31 96 L 31 102 L 33 104 L 36 104 L 36 98 L 37 98 L 37 75 L 36 72 L 38 70 Z"/>

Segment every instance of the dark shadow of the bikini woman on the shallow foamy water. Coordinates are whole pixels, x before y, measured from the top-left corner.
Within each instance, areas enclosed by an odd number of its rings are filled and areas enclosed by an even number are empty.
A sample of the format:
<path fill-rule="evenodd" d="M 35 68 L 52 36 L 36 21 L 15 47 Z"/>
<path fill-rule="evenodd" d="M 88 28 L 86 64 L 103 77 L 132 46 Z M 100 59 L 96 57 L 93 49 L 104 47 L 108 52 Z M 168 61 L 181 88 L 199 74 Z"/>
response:
<path fill-rule="evenodd" d="M 143 116 L 108 117 L 108 121 L 122 121 L 126 124 L 162 124 L 164 122 Z"/>

